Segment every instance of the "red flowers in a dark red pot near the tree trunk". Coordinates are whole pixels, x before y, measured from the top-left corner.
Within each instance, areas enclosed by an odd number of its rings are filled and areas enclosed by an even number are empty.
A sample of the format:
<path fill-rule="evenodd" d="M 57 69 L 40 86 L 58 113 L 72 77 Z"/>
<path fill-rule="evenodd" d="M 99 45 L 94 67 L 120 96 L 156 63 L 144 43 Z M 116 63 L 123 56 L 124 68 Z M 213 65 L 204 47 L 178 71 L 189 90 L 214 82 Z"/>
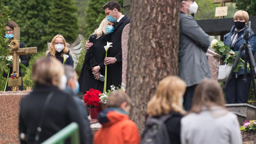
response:
<path fill-rule="evenodd" d="M 91 119 L 98 118 L 98 114 L 101 110 L 102 102 L 100 101 L 101 92 L 99 90 L 90 89 L 86 91 L 83 99 L 84 103 L 88 107 L 88 111 L 90 114 Z"/>

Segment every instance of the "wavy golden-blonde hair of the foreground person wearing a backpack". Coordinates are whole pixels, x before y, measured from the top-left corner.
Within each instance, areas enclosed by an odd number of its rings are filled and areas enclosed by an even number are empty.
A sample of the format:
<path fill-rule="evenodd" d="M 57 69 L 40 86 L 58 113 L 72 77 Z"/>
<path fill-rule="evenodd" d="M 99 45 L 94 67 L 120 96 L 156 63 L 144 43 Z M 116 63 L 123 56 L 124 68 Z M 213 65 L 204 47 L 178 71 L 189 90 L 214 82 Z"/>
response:
<path fill-rule="evenodd" d="M 186 83 L 177 76 L 162 79 L 158 84 L 156 94 L 147 104 L 147 114 L 155 117 L 169 114 L 170 111 L 184 113 L 181 99 L 185 90 Z"/>

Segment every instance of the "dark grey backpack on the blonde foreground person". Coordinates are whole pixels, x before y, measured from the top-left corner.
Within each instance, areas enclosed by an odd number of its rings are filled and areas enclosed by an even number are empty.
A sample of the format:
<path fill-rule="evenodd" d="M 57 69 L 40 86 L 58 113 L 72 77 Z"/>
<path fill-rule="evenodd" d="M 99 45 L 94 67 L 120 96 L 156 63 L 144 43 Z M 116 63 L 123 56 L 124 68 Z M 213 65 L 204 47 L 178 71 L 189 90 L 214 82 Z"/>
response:
<path fill-rule="evenodd" d="M 165 125 L 165 121 L 170 117 L 171 114 L 163 115 L 160 118 L 148 117 L 145 122 L 141 144 L 170 144 L 169 134 Z"/>

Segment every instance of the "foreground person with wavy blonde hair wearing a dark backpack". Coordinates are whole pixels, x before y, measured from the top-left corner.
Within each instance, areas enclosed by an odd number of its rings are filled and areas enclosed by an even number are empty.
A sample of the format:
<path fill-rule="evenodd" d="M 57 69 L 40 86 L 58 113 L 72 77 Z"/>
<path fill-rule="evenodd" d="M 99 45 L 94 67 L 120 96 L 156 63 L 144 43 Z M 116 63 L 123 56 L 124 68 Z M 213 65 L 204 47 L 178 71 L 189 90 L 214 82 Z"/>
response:
<path fill-rule="evenodd" d="M 141 144 L 146 144 L 151 139 L 154 143 L 180 144 L 185 90 L 186 83 L 177 76 L 168 76 L 159 82 L 156 94 L 147 104 L 149 117 L 146 119 Z M 155 130 L 158 131 L 157 134 L 154 134 Z"/>

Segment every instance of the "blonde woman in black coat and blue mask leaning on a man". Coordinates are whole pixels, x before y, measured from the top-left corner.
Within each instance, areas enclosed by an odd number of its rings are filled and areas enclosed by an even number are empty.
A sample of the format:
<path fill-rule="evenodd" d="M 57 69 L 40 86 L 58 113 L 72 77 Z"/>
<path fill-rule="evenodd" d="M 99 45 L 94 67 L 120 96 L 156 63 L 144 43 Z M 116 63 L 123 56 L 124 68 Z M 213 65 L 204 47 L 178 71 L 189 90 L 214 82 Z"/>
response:
<path fill-rule="evenodd" d="M 112 43 L 109 42 L 109 38 L 113 30 L 114 22 L 104 18 L 98 29 L 90 36 L 89 41 L 93 45 L 86 52 L 85 61 L 78 79 L 81 92 L 86 92 L 91 88 L 103 92 L 104 58 L 106 57 L 106 51 L 112 47 L 110 46 Z"/>

